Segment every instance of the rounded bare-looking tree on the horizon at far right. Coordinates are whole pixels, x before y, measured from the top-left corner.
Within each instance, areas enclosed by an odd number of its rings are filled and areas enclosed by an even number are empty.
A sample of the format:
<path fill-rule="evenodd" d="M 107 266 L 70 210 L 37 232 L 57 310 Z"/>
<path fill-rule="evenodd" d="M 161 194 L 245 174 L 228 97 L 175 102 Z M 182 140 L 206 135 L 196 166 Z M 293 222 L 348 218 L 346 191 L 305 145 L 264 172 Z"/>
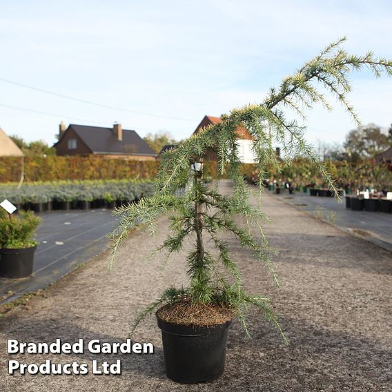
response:
<path fill-rule="evenodd" d="M 343 144 L 352 161 L 374 157 L 391 146 L 389 135 L 382 133 L 380 126 L 367 124 L 351 130 Z"/>

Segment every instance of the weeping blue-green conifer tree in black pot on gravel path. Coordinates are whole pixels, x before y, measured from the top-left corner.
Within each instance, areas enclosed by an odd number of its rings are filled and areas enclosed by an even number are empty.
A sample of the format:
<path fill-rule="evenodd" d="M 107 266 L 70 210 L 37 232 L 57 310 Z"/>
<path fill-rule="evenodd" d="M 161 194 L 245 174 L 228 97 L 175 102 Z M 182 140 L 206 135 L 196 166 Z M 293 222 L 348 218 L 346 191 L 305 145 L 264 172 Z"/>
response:
<path fill-rule="evenodd" d="M 339 198 L 331 175 L 304 139 L 304 128 L 286 119 L 284 108 L 293 108 L 300 116 L 304 115 L 303 107 L 311 108 L 316 103 L 330 108 L 322 92 L 317 90 L 321 84 L 358 121 L 346 100 L 351 88 L 349 73 L 367 67 L 375 75 L 383 71 L 391 75 L 392 62 L 375 58 L 371 52 L 364 56 L 349 55 L 342 49 L 342 41 L 344 39 L 332 43 L 295 75 L 286 77 L 279 88 L 271 89 L 262 104 L 232 110 L 221 117 L 221 122 L 204 128 L 164 154 L 155 182 L 155 195 L 141 199 L 138 204 L 117 208 L 115 212 L 120 219 L 110 236 L 109 268 L 130 230 L 145 225 L 153 231 L 161 215 L 170 216 L 171 233 L 160 248 L 169 254 L 179 252 L 184 239 L 193 239 L 193 249 L 184 257 L 188 286 L 166 288 L 135 320 L 136 326 L 146 315 L 156 312 L 162 331 L 166 373 L 177 382 L 206 382 L 222 374 L 228 326 L 237 318 L 249 335 L 246 311 L 250 305 L 259 308 L 280 333 L 283 343 L 288 344 L 271 301 L 266 295 L 246 291 L 237 260 L 232 258 L 230 245 L 222 237 L 231 233 L 244 248 L 251 249 L 255 259 L 266 266 L 279 284 L 272 265 L 273 251 L 259 223 L 264 215 L 249 203 L 251 189 L 241 172 L 235 132 L 242 126 L 253 139 L 260 197 L 266 167 L 273 165 L 279 170 L 273 145 L 277 142 L 284 146 L 288 161 L 297 154 L 310 157 L 324 182 Z M 203 159 L 211 149 L 216 151 L 219 175 L 226 175 L 233 182 L 233 192 L 229 195 L 202 181 Z M 176 195 L 177 188 L 187 181 L 185 192 Z M 206 246 L 207 241 L 213 244 L 213 250 Z"/>

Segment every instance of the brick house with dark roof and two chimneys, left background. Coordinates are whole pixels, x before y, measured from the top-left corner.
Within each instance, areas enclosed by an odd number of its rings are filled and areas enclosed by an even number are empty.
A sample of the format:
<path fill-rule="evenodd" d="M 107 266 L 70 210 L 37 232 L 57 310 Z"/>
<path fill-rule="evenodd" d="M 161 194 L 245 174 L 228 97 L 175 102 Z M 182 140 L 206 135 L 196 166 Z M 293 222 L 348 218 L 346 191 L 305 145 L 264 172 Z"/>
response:
<path fill-rule="evenodd" d="M 57 155 L 101 155 L 103 157 L 153 160 L 157 153 L 141 139 L 135 130 L 66 124 L 61 121 L 59 141 L 54 146 Z"/>

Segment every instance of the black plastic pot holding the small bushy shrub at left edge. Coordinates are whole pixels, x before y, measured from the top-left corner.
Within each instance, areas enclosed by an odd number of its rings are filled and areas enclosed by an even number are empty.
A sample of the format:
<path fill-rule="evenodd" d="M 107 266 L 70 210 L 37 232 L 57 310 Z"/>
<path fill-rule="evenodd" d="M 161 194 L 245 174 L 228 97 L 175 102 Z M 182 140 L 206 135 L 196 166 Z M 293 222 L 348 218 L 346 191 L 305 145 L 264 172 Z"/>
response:
<path fill-rule="evenodd" d="M 36 249 L 37 246 L 20 249 L 0 249 L 0 276 L 18 278 L 31 275 Z"/>

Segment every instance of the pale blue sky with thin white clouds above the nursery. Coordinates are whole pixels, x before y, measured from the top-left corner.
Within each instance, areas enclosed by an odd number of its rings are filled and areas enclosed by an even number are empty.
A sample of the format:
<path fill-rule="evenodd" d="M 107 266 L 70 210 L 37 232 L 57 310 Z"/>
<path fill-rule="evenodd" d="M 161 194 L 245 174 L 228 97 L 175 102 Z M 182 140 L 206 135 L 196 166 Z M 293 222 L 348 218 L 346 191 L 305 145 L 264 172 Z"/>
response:
<path fill-rule="evenodd" d="M 188 137 L 206 114 L 263 101 L 268 88 L 344 35 L 355 54 L 392 57 L 389 1 L 0 0 L 0 10 L 0 78 L 131 111 L 0 81 L 0 127 L 50 144 L 61 120 Z M 362 123 L 388 127 L 392 79 L 360 72 L 352 81 Z M 316 107 L 307 125 L 314 144 L 343 141 L 355 128 L 338 105 Z"/>

